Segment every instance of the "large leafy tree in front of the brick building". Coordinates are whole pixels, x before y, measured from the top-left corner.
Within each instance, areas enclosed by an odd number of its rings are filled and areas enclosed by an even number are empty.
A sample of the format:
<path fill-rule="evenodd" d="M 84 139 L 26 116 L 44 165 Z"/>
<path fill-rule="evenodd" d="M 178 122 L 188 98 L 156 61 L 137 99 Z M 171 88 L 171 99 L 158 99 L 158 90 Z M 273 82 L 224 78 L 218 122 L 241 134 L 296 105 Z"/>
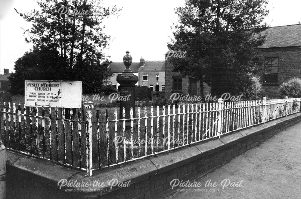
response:
<path fill-rule="evenodd" d="M 250 90 L 252 76 L 264 60 L 256 49 L 265 41 L 262 23 L 267 0 L 187 0 L 179 7 L 179 23 L 169 49 L 185 52 L 170 58 L 174 71 L 211 86 L 212 95 Z M 203 90 L 201 90 L 203 95 Z M 252 95 L 252 93 L 249 93 Z"/>

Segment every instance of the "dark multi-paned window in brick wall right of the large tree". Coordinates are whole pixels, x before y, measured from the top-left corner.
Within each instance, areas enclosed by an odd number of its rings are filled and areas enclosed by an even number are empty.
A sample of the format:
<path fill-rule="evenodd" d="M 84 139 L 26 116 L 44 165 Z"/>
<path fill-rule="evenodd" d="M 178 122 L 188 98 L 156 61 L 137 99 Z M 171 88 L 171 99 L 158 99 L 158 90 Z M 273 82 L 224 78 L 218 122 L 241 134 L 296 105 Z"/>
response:
<path fill-rule="evenodd" d="M 264 83 L 278 83 L 278 58 L 266 58 Z"/>

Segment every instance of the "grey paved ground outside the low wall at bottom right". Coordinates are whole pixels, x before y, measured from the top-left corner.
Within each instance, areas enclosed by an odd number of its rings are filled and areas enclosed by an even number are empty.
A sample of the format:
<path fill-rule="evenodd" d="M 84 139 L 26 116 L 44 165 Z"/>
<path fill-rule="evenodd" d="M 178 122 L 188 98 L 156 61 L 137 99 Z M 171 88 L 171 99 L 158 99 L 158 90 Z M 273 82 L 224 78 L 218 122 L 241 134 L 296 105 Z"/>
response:
<path fill-rule="evenodd" d="M 195 181 L 201 187 L 166 198 L 301 198 L 301 122 Z M 216 187 L 205 187 L 206 181 Z"/>

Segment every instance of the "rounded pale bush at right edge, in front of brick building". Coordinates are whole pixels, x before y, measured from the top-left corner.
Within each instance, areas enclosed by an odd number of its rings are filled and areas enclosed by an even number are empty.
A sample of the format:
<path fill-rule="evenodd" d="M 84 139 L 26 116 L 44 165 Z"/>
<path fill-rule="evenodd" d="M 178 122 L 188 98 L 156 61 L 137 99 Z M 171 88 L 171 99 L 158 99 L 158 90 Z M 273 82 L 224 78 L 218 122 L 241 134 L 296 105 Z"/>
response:
<path fill-rule="evenodd" d="M 289 98 L 301 97 L 301 79 L 293 77 L 292 79 L 283 82 L 279 87 L 278 92 Z"/>

